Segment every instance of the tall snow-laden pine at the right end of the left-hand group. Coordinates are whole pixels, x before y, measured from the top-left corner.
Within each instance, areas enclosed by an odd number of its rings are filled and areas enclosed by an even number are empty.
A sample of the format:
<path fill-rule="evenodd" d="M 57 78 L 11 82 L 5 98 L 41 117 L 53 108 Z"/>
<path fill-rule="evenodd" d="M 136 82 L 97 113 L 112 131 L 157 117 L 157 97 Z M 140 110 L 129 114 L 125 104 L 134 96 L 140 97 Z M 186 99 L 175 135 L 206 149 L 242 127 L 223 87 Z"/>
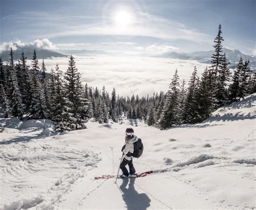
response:
<path fill-rule="evenodd" d="M 88 101 L 83 97 L 83 86 L 80 80 L 80 73 L 76 69 L 76 62 L 71 55 L 69 58 L 69 67 L 65 72 L 65 91 L 66 98 L 70 101 L 70 110 L 76 119 L 75 129 L 86 128 L 86 111 Z"/>

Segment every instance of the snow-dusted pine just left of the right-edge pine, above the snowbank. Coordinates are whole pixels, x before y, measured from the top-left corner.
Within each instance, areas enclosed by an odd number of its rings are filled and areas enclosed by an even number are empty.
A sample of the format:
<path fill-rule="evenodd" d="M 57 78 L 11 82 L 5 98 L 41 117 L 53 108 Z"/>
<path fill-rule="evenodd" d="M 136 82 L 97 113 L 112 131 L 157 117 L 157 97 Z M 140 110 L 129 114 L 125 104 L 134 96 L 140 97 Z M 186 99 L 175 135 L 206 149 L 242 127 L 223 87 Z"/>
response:
<path fill-rule="evenodd" d="M 248 82 L 250 78 L 250 68 L 248 67 L 248 64 L 250 63 L 250 60 L 246 60 L 244 62 L 244 65 L 242 66 L 242 69 L 239 74 L 239 91 L 238 91 L 238 98 L 244 99 L 246 94 L 248 94 L 250 91 L 248 90 Z"/>

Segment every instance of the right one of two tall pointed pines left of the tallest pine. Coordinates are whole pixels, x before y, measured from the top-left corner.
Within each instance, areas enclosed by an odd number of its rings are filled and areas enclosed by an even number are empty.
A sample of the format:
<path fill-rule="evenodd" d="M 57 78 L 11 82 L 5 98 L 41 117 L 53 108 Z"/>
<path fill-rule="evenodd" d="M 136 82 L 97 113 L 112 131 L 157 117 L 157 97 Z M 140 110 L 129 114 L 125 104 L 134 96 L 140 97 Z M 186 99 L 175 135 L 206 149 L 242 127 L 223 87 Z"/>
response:
<path fill-rule="evenodd" d="M 194 66 L 194 71 L 190 77 L 187 87 L 187 96 L 183 110 L 182 121 L 184 123 L 196 123 L 198 121 L 197 113 L 197 92 L 199 87 L 199 78 L 197 76 L 197 67 Z"/>

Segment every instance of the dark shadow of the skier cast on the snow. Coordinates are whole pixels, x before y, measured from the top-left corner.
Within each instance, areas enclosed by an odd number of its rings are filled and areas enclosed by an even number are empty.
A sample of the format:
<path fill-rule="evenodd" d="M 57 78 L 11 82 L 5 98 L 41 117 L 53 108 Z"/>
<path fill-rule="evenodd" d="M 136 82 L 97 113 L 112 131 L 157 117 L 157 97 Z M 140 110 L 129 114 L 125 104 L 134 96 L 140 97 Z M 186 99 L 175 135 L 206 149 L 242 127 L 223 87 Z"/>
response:
<path fill-rule="evenodd" d="M 130 180 L 128 188 L 126 188 Z M 123 183 L 120 186 L 121 191 L 123 192 L 123 200 L 127 206 L 127 210 L 144 210 L 147 207 L 150 207 L 150 198 L 145 193 L 138 193 L 134 188 L 134 182 L 136 179 L 123 179 Z"/>

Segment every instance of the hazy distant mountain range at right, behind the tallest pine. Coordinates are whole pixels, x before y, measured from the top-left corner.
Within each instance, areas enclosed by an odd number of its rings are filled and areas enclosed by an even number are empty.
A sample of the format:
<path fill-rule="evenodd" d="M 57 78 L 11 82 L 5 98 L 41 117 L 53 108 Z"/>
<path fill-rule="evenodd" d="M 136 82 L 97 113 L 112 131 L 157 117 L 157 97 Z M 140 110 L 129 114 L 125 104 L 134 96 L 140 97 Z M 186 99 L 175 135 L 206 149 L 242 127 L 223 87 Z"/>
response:
<path fill-rule="evenodd" d="M 211 64 L 211 57 L 214 53 L 213 50 L 210 51 L 197 51 L 197 52 L 167 52 L 157 57 L 161 58 L 177 58 L 182 60 L 197 60 L 200 63 L 207 63 Z M 236 64 L 239 62 L 240 58 L 242 57 L 243 60 L 250 60 L 250 67 L 256 67 L 256 58 L 255 56 L 246 55 L 239 50 L 230 50 L 223 48 L 223 53 L 226 53 L 226 58 L 228 62 L 230 62 L 231 67 L 235 67 Z"/>

